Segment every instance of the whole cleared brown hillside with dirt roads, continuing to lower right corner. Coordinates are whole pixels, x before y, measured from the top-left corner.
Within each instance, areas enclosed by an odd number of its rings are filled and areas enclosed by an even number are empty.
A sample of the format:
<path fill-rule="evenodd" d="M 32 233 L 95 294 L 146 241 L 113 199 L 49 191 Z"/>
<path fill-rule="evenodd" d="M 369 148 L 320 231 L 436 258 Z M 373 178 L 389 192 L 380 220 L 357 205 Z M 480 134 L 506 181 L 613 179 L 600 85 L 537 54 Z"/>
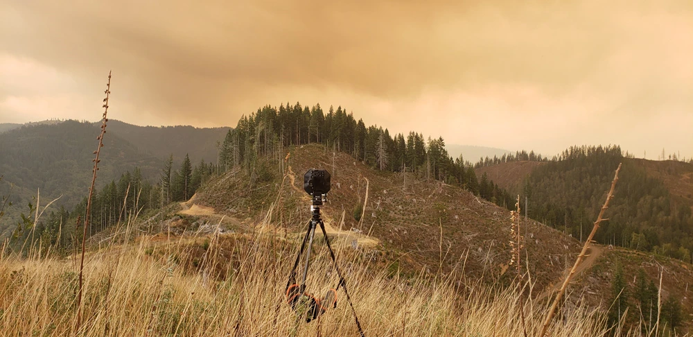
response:
<path fill-rule="evenodd" d="M 233 232 L 252 231 L 250 226 L 266 220 L 270 204 L 279 200 L 279 209 L 274 209 L 269 218 L 279 223 L 274 231 L 299 237 L 308 220 L 310 205 L 302 190 L 303 173 L 314 166 L 327 168 L 333 173 L 333 189 L 323 214 L 336 245 L 362 246 L 371 250 L 389 270 L 400 270 L 410 277 L 422 270 L 435 274 L 439 268 L 444 272 L 463 268 L 464 275 L 459 277 L 466 281 L 509 284 L 513 273 L 507 265 L 507 209 L 463 189 L 416 180 L 409 174 L 405 187 L 401 173 L 375 171 L 349 155 L 333 156 L 315 144 L 288 151 L 290 155 L 284 164 L 286 176 L 279 173 L 280 168 L 267 164 L 258 165 L 254 180 L 243 170 L 230 171 L 202 187 L 185 205 L 188 210 L 183 211 L 185 216 L 180 221 L 188 223 L 184 226 L 222 221 Z M 360 222 L 354 214 L 366 198 L 366 187 L 368 202 Z M 622 191 L 622 187 L 617 191 Z M 178 225 L 182 225 L 180 221 Z M 528 221 L 523 232 L 529 273 L 536 282 L 532 297 L 545 300 L 550 290 L 561 282 L 564 270 L 572 266 L 581 244 L 536 221 Z M 595 245 L 590 254 L 592 257 L 581 266 L 581 273 L 570 286 L 572 295 L 568 296 L 568 302 L 572 306 L 584 300 L 608 311 L 615 260 L 625 265 L 625 279 L 633 287 L 640 266 L 651 280 L 657 280 L 656 266 L 663 266 L 665 298 L 686 293 L 687 283 L 693 282 L 690 264 L 676 259 L 603 245 Z M 631 299 L 633 306 L 638 304 L 634 301 Z M 693 313 L 692 300 L 686 297 L 681 305 L 686 315 Z M 629 323 L 638 321 L 629 316 Z M 681 329 L 687 331 L 690 323 L 685 322 L 677 330 L 681 332 Z"/>

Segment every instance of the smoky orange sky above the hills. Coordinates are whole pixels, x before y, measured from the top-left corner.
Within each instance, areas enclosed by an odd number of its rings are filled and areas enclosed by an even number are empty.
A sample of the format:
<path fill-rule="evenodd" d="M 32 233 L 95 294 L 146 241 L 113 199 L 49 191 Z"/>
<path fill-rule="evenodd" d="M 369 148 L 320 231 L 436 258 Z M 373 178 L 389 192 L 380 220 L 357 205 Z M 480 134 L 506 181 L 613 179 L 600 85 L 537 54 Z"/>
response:
<path fill-rule="evenodd" d="M 0 0 L 0 122 L 342 105 L 448 144 L 693 156 L 693 2 Z"/>

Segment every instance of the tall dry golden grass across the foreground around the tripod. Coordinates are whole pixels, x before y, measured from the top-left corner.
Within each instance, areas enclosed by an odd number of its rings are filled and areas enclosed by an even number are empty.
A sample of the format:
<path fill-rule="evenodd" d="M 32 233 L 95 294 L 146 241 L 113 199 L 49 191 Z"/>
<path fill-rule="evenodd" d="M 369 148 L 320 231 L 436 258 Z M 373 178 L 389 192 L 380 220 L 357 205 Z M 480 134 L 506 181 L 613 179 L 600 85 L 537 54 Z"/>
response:
<path fill-rule="evenodd" d="M 296 241 L 256 233 L 145 236 L 87 254 L 81 331 L 73 331 L 73 259 L 2 254 L 0 335 L 358 336 L 343 291 L 337 309 L 319 322 L 297 322 L 284 302 Z M 308 282 L 318 297 L 337 281 L 323 247 L 316 243 Z M 514 291 L 449 281 L 459 277 L 392 277 L 372 256 L 338 247 L 366 336 L 523 336 Z M 546 309 L 525 304 L 528 336 L 541 329 Z M 605 336 L 603 322 L 586 309 L 570 309 L 554 320 L 550 336 Z"/>

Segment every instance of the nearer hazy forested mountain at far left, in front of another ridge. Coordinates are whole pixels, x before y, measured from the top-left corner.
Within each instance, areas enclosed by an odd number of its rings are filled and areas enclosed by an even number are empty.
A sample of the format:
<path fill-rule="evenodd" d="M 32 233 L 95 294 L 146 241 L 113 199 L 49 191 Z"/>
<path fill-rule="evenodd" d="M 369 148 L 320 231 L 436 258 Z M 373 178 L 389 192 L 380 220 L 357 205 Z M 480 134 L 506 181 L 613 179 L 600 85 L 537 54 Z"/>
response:
<path fill-rule="evenodd" d="M 42 205 L 62 196 L 54 205 L 68 209 L 87 195 L 98 132 L 93 123 L 64 121 L 23 126 L 0 134 L 0 175 L 4 175 L 0 195 L 7 196 L 10 184 L 15 184 L 10 197 L 14 205 L 0 220 L 0 233 L 14 225 L 20 211 L 26 213 L 26 205 L 37 190 Z M 157 178 L 163 160 L 141 153 L 114 133 L 104 138 L 97 187 L 135 167 L 141 168 L 143 178 Z"/>

